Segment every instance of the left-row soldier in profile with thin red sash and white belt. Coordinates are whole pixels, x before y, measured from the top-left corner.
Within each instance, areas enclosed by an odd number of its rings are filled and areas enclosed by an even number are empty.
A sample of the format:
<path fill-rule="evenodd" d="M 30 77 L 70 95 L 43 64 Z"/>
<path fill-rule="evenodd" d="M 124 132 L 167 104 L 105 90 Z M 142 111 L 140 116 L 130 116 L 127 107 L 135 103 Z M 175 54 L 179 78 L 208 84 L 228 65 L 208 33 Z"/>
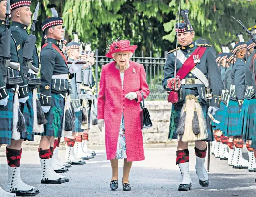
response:
<path fill-rule="evenodd" d="M 40 103 L 48 122 L 44 126 L 44 132 L 41 134 L 42 137 L 39 143 L 41 183 L 44 184 L 69 182 L 68 178 L 54 172 L 54 166 L 52 165 L 54 137 L 61 137 L 62 128 L 64 133 L 66 127 L 72 125 L 72 117 L 70 117 L 69 107 L 67 106 L 69 68 L 59 47 L 64 33 L 62 23 L 63 20 L 56 16 L 42 22 L 43 36 L 47 36 L 46 43 L 42 43 L 40 54 L 41 85 L 39 94 Z M 66 118 L 65 121 L 64 118 Z M 67 171 L 63 167 L 55 170 Z"/>

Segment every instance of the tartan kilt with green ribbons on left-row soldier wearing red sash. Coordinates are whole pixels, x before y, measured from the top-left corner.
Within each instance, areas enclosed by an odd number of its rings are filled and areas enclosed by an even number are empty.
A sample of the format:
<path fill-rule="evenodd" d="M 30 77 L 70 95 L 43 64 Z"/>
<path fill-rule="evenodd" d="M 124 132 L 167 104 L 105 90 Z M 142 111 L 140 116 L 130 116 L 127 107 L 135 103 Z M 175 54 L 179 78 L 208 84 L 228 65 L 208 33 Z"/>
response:
<path fill-rule="evenodd" d="M 61 137 L 64 109 L 65 98 L 61 97 L 60 94 L 51 93 L 51 108 L 49 112 L 44 113 L 47 120 L 44 125 L 44 132 L 36 133 L 36 135 Z"/>

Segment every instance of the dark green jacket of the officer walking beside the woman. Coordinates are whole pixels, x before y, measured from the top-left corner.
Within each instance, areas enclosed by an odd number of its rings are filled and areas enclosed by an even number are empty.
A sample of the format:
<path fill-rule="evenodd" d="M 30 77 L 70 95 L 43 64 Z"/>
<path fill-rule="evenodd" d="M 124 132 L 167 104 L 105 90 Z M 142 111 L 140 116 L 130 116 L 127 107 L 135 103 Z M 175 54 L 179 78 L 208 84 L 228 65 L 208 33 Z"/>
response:
<path fill-rule="evenodd" d="M 210 47 L 210 45 L 200 45 L 203 47 Z M 165 90 L 170 91 L 170 89 L 166 89 L 167 80 L 174 77 L 174 68 L 175 68 L 175 55 L 174 52 L 176 50 L 181 50 L 184 55 L 188 58 L 197 48 L 195 42 L 189 44 L 188 46 L 178 47 L 177 49 L 171 50 L 167 55 L 166 64 L 164 66 L 164 79 L 162 80 L 162 86 Z M 177 59 L 177 68 L 176 72 L 181 68 L 182 63 Z M 215 62 L 215 58 L 210 49 L 206 49 L 204 55 L 200 59 L 200 63 L 196 64 L 196 67 L 200 69 L 205 77 L 209 80 L 209 87 L 212 89 L 212 100 L 210 102 L 211 106 L 219 107 L 221 100 L 221 90 L 223 89 L 223 83 L 221 81 L 220 70 Z M 195 75 L 189 73 L 185 79 L 194 78 Z M 183 104 L 185 102 L 185 89 L 198 89 L 200 100 L 202 104 L 208 103 L 208 99 L 206 98 L 206 89 L 203 84 L 195 84 L 195 85 L 182 85 L 181 90 L 178 91 L 179 101 L 177 105 Z"/>

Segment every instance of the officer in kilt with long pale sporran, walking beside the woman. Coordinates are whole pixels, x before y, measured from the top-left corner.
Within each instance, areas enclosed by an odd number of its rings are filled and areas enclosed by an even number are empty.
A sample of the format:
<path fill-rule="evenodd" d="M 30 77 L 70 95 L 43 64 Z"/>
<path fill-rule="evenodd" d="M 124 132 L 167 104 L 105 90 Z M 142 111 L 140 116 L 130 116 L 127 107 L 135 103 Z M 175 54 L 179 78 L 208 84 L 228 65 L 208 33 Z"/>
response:
<path fill-rule="evenodd" d="M 168 53 L 162 85 L 170 93 L 168 97 L 170 102 L 175 103 L 178 100 L 176 104 L 172 105 L 169 139 L 178 139 L 176 164 L 179 165 L 182 175 L 182 182 L 178 190 L 188 191 L 192 186 L 189 174 L 189 141 L 195 141 L 195 169 L 199 184 L 202 187 L 209 186 L 209 177 L 205 170 L 207 152 L 205 140 L 213 141 L 213 133 L 211 121 L 206 115 L 207 113 L 214 115 L 219 109 L 223 84 L 214 56 L 211 50 L 208 49 L 210 45 L 196 45 L 193 42 L 195 32 L 190 22 L 185 21 L 176 24 L 176 32 L 181 47 Z M 174 78 L 176 77 L 174 76 L 176 55 L 177 76 L 182 79 L 178 92 L 176 92 L 177 89 L 170 88 L 174 85 L 173 79 L 177 79 Z M 183 62 L 184 59 L 187 60 Z M 186 65 L 185 68 L 192 65 L 192 68 L 184 69 L 184 65 Z M 179 70 L 182 70 L 182 73 Z M 207 97 L 210 95 L 206 92 L 207 88 L 212 89 L 210 104 Z M 178 98 L 176 93 L 178 93 Z"/>

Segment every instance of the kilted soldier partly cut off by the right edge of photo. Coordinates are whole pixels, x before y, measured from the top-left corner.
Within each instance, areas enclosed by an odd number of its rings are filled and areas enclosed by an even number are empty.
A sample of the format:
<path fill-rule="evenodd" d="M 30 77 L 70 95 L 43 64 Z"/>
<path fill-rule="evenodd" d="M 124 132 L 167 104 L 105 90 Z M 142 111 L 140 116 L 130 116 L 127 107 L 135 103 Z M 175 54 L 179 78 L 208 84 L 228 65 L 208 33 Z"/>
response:
<path fill-rule="evenodd" d="M 254 159 L 253 148 L 251 147 L 251 135 L 253 133 L 254 122 L 256 119 L 256 99 L 255 93 L 253 89 L 253 78 L 252 78 L 252 53 L 256 43 L 252 40 L 247 42 L 247 49 L 248 49 L 248 57 L 245 65 L 245 84 L 246 84 L 246 93 L 244 104 L 240 113 L 239 118 L 239 130 L 242 130 L 243 139 L 246 140 L 246 148 L 249 155 L 249 172 L 256 171 L 256 163 Z"/>

